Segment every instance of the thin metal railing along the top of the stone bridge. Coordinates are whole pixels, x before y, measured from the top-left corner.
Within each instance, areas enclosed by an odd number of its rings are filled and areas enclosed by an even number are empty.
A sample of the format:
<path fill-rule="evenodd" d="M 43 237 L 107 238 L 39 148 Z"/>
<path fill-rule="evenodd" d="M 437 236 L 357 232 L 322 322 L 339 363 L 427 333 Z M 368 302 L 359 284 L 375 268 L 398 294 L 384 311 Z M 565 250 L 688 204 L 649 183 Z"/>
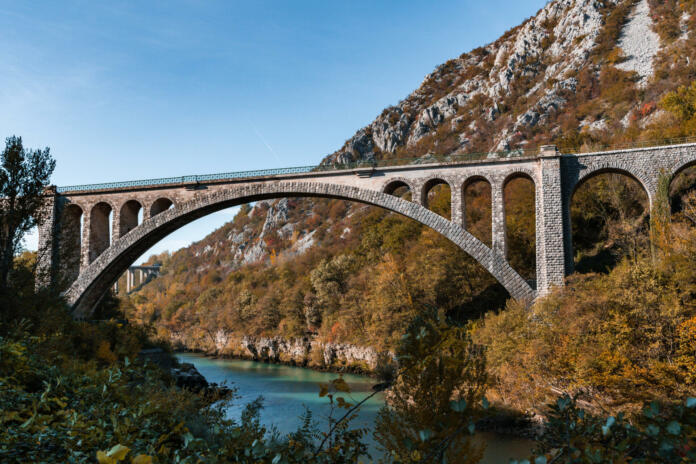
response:
<path fill-rule="evenodd" d="M 636 142 L 620 144 L 585 144 L 581 147 L 559 146 L 562 153 L 580 154 L 587 152 L 625 150 L 631 148 L 648 148 L 666 145 L 679 145 L 696 143 L 696 137 L 664 138 L 660 140 L 642 140 Z M 335 161 L 325 161 L 314 166 L 298 166 L 291 168 L 259 169 L 253 171 L 223 172 L 218 174 L 203 174 L 180 177 L 161 177 L 156 179 L 131 180 L 125 182 L 106 182 L 101 184 L 68 185 L 58 187 L 59 193 L 78 192 L 90 190 L 122 189 L 130 187 L 153 187 L 158 185 L 182 184 L 195 185 L 200 182 L 223 181 L 232 179 L 277 176 L 284 174 L 302 174 L 306 172 L 322 171 L 342 171 L 359 168 L 377 168 L 387 166 L 405 166 L 429 163 L 462 163 L 467 161 L 482 161 L 489 159 L 522 158 L 537 156 L 537 148 L 516 149 L 509 151 L 487 152 L 487 153 L 454 153 L 450 155 L 427 154 L 418 158 L 383 158 L 379 160 L 361 160 L 337 163 Z"/>

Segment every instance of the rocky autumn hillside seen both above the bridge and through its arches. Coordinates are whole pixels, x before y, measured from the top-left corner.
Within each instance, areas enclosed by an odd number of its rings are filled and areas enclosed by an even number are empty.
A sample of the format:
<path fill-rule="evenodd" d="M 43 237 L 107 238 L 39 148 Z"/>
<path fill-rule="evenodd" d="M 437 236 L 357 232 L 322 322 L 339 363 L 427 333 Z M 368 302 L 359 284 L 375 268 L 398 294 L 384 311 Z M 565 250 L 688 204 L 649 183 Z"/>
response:
<path fill-rule="evenodd" d="M 688 110 L 682 87 L 696 80 L 695 12 L 694 0 L 551 1 L 495 42 L 438 66 L 323 163 L 694 135 L 696 124 L 686 121 L 696 110 Z M 466 192 L 474 205 L 467 224 L 487 241 L 490 192 L 479 187 Z M 532 277 L 533 187 L 506 189 L 510 259 Z M 637 190 L 623 189 L 630 195 L 595 203 L 581 195 L 588 202 L 578 210 L 581 223 L 606 229 L 629 197 L 642 214 Z M 447 215 L 449 192 L 431 194 L 431 208 Z M 593 238 L 606 238 L 597 230 Z M 580 252 L 601 248 L 585 243 L 582 230 L 575 235 Z M 239 340 L 318 336 L 385 348 L 419 304 L 470 318 L 506 296 L 436 234 L 336 200 L 258 202 L 200 242 L 152 259 L 164 263 L 164 275 L 126 302 L 129 317 L 199 345 L 215 345 L 206 330 L 222 328 Z"/>

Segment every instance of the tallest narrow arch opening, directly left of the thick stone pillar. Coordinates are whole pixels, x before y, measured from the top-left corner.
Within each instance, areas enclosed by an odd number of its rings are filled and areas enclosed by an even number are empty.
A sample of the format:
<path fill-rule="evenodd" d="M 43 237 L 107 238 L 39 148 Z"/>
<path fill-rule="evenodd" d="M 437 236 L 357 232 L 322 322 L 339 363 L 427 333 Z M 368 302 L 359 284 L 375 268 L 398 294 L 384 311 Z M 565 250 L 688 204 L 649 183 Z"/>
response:
<path fill-rule="evenodd" d="M 536 278 L 536 186 L 515 173 L 503 184 L 507 258 L 522 277 Z"/>

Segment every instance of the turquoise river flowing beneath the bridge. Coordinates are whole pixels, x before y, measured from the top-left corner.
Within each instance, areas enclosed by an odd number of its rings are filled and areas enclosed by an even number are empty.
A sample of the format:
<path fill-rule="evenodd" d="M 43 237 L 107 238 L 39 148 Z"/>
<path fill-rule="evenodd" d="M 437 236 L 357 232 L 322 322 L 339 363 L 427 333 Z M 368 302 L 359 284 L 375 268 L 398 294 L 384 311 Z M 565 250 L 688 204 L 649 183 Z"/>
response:
<path fill-rule="evenodd" d="M 319 397 L 318 385 L 328 383 L 338 374 L 255 361 L 214 359 L 193 353 L 179 353 L 177 357 L 182 362 L 195 365 L 209 382 L 226 382 L 237 389 L 240 398 L 228 410 L 230 418 L 238 419 L 244 405 L 262 395 L 264 409 L 261 411 L 261 423 L 267 427 L 275 426 L 281 434 L 297 429 L 305 406 L 312 410 L 314 419 L 320 426 L 326 424 L 327 399 Z M 373 379 L 359 375 L 345 374 L 343 378 L 356 401 L 365 398 L 375 383 Z M 368 400 L 358 418 L 351 423 L 352 427 L 372 429 L 377 411 L 383 403 L 381 393 Z M 499 464 L 508 462 L 510 458 L 524 458 L 532 447 L 530 440 L 493 433 L 478 433 L 477 436 L 486 442 L 482 464 Z M 375 457 L 378 453 L 371 435 L 366 437 L 366 442 L 370 446 L 370 453 Z"/>

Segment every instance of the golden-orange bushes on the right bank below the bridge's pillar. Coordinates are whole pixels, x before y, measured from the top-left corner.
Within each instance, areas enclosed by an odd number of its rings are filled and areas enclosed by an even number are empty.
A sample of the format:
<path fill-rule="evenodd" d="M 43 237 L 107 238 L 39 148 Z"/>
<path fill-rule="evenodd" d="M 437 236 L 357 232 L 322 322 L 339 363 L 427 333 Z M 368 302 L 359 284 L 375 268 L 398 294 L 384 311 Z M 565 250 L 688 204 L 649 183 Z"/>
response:
<path fill-rule="evenodd" d="M 646 401 L 696 396 L 696 232 L 674 225 L 654 258 L 573 276 L 531 311 L 510 303 L 477 324 L 492 398 L 542 411 L 584 392 L 595 411 L 635 414 Z"/>

